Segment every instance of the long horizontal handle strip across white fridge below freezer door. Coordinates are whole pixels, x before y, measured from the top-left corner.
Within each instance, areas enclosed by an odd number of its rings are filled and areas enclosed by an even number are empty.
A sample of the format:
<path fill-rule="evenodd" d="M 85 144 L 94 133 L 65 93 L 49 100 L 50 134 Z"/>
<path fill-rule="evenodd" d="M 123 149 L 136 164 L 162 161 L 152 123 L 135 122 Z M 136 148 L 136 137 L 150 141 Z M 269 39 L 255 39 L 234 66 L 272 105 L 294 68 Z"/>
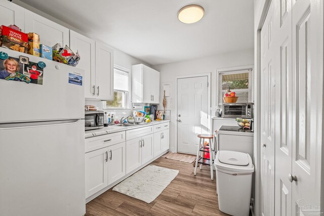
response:
<path fill-rule="evenodd" d="M 57 125 L 57 124 L 75 124 L 79 121 L 80 121 L 80 119 L 64 119 L 64 120 L 53 120 L 53 121 L 28 121 L 28 122 L 16 122 L 16 123 L 0 123 L 0 129 L 38 127 L 38 126 Z"/>

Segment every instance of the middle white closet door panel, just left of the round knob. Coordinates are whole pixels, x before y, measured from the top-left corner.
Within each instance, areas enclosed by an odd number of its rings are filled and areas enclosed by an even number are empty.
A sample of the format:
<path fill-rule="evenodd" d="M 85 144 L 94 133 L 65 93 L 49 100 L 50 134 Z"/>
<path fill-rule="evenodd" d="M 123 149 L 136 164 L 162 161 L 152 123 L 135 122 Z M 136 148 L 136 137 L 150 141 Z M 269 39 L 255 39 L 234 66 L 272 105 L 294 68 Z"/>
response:
<path fill-rule="evenodd" d="M 275 1 L 275 215 L 292 215 L 292 2 Z"/>

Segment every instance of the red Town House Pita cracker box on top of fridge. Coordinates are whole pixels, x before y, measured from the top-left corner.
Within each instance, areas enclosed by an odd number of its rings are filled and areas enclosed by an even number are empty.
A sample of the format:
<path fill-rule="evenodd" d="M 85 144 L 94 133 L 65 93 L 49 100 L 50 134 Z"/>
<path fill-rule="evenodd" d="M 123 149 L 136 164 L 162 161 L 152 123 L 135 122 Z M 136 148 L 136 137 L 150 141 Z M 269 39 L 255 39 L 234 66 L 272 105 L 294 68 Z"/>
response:
<path fill-rule="evenodd" d="M 27 41 L 27 34 L 5 25 L 0 26 L 1 47 L 15 50 L 21 53 L 27 53 Z"/>

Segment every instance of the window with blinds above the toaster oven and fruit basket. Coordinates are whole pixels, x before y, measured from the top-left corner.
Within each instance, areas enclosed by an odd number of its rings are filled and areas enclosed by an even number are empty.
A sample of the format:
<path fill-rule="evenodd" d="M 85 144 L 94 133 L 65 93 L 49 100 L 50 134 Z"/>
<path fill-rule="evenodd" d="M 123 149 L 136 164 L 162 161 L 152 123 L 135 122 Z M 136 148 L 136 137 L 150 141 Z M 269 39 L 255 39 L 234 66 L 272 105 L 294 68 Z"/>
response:
<path fill-rule="evenodd" d="M 218 104 L 223 104 L 226 90 L 235 92 L 236 103 L 252 102 L 252 69 L 219 72 L 218 75 Z"/>

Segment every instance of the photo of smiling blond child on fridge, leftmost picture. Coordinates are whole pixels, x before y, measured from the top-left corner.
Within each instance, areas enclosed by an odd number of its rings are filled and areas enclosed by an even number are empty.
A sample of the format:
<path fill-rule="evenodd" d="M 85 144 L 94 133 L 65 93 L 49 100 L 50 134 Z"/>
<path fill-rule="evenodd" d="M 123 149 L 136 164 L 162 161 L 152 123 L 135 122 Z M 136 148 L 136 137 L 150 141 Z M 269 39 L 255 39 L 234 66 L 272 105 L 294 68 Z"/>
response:
<path fill-rule="evenodd" d="M 23 81 L 29 83 L 29 76 L 23 74 L 24 64 L 18 58 L 9 57 L 0 60 L 0 79 Z"/>

